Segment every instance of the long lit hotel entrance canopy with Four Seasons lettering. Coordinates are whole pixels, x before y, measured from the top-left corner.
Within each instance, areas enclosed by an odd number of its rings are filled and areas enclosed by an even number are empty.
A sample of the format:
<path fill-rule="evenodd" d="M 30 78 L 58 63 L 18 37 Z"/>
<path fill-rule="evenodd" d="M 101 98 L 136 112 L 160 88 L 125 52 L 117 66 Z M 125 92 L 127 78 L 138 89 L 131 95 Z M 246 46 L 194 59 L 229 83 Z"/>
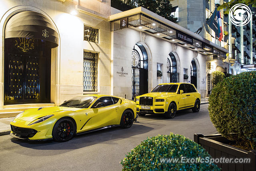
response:
<path fill-rule="evenodd" d="M 111 31 L 124 28 L 145 31 L 154 37 L 178 43 L 206 56 L 217 55 L 221 59 L 226 59 L 226 53 L 228 53 L 228 50 L 223 47 L 143 7 L 113 14 L 109 16 L 109 21 L 111 22 Z"/>

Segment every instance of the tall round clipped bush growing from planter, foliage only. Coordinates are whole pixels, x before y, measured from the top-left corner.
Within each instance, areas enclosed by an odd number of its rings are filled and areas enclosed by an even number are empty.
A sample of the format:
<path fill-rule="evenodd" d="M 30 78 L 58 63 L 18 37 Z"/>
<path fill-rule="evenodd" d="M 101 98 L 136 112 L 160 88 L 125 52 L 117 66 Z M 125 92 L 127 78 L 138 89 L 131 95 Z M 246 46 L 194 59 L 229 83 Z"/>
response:
<path fill-rule="evenodd" d="M 209 97 L 210 119 L 224 137 L 256 147 L 256 71 L 232 75 Z M 236 136 L 231 136 L 234 133 Z"/>

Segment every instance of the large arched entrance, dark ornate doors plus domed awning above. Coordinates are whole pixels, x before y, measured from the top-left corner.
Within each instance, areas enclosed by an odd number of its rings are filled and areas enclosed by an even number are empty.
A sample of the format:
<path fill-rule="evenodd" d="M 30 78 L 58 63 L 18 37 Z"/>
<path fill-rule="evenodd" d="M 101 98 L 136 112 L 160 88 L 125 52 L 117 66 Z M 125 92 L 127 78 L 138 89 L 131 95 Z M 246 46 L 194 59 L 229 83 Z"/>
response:
<path fill-rule="evenodd" d="M 19 12 L 6 24 L 4 104 L 49 103 L 52 48 L 58 33 L 43 14 Z"/>

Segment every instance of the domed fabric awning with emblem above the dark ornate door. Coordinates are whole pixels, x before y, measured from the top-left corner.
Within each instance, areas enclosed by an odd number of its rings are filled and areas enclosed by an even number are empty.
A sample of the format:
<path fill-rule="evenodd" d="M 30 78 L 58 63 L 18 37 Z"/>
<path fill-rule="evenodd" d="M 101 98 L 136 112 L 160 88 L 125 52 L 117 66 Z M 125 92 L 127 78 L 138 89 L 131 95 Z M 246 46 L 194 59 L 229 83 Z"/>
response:
<path fill-rule="evenodd" d="M 51 48 L 58 46 L 58 33 L 52 22 L 43 14 L 32 11 L 20 12 L 7 22 L 5 38 L 28 37 L 50 42 Z"/>

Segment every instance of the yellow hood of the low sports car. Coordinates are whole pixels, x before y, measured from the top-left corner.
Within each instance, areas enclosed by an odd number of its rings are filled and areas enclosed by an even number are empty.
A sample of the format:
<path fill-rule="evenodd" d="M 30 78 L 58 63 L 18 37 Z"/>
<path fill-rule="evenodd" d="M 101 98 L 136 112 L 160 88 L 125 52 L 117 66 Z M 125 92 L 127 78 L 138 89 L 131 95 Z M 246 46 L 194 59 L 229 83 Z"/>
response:
<path fill-rule="evenodd" d="M 76 111 L 81 110 L 81 108 L 69 108 L 69 107 L 61 107 L 61 106 L 54 106 L 54 107 L 46 107 L 46 108 L 32 108 L 25 110 L 22 114 L 16 116 L 15 119 L 30 121 L 37 118 L 41 118 L 50 114 L 58 114 L 59 112 L 63 111 Z"/>

